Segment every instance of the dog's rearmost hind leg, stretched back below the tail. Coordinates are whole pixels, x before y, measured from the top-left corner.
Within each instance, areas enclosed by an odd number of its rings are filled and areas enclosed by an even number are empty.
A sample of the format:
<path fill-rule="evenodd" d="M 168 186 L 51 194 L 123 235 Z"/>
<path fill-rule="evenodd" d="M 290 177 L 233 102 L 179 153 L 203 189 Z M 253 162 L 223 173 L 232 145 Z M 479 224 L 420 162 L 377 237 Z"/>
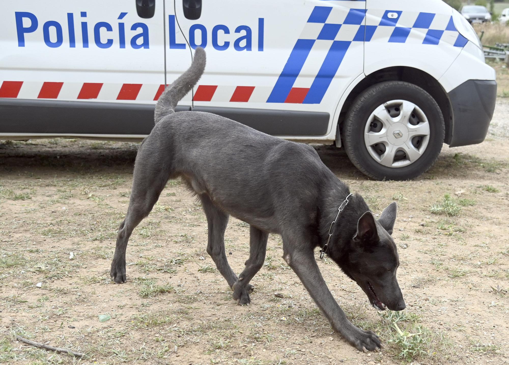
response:
<path fill-rule="evenodd" d="M 110 276 L 115 283 L 126 282 L 127 241 L 139 222 L 149 215 L 170 175 L 169 154 L 158 157 L 154 147 L 157 146 L 144 143 L 136 156 L 129 208 L 120 224 L 115 255 L 111 262 Z"/>

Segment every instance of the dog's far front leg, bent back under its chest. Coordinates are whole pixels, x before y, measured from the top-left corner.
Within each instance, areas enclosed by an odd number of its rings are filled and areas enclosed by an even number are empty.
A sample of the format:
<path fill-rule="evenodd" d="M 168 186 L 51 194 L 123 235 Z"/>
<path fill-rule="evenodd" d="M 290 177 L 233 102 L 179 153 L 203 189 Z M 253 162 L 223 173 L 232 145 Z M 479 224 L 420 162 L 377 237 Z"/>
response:
<path fill-rule="evenodd" d="M 267 239 L 269 238 L 267 232 L 253 226 L 249 233 L 249 259 L 246 261 L 246 267 L 240 273 L 239 279 L 233 285 L 233 298 L 239 305 L 251 302 L 249 293 L 252 293 L 254 288 L 249 282 L 263 266 L 267 252 Z"/>

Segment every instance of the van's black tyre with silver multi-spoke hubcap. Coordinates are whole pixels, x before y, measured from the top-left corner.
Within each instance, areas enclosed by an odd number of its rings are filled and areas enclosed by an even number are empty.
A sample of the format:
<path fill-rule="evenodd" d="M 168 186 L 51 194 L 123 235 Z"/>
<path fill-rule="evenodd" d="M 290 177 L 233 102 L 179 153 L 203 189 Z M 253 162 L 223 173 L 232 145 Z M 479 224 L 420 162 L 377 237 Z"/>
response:
<path fill-rule="evenodd" d="M 348 111 L 343 143 L 352 163 L 376 180 L 407 180 L 435 163 L 445 127 L 437 102 L 403 81 L 367 89 Z"/>

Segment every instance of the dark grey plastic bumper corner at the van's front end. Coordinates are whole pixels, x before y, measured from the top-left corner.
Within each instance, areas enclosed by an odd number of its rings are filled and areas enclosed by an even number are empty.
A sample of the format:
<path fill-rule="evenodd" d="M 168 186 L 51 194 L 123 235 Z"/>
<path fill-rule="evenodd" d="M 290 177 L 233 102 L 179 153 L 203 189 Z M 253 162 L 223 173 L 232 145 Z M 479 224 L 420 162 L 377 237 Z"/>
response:
<path fill-rule="evenodd" d="M 453 109 L 449 147 L 481 143 L 488 134 L 497 99 L 497 82 L 468 80 L 448 94 Z"/>

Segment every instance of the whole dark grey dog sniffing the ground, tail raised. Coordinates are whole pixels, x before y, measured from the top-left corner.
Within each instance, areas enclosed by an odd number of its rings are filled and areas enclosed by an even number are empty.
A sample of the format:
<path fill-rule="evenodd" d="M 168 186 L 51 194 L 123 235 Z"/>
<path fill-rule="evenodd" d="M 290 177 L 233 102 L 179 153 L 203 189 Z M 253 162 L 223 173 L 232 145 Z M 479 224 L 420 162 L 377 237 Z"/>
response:
<path fill-rule="evenodd" d="M 150 213 L 168 179 L 181 177 L 202 202 L 209 227 L 207 252 L 238 304 L 250 303 L 249 282 L 263 266 L 269 233 L 277 233 L 282 236 L 283 258 L 332 328 L 359 351 L 379 351 L 378 336 L 351 324 L 334 300 L 314 249 L 322 247 L 322 255 L 326 253 L 355 280 L 378 310 L 403 310 L 396 279 L 399 257 L 391 237 L 395 203 L 376 220 L 362 197 L 350 194 L 313 147 L 210 113 L 175 113 L 177 103 L 202 76 L 205 60 L 203 48 L 196 48 L 189 69 L 157 102 L 155 127 L 136 156 L 129 208 L 111 263 L 112 279 L 126 282 L 126 247 L 133 229 Z M 249 259 L 239 276 L 224 251 L 230 215 L 250 224 Z"/>

